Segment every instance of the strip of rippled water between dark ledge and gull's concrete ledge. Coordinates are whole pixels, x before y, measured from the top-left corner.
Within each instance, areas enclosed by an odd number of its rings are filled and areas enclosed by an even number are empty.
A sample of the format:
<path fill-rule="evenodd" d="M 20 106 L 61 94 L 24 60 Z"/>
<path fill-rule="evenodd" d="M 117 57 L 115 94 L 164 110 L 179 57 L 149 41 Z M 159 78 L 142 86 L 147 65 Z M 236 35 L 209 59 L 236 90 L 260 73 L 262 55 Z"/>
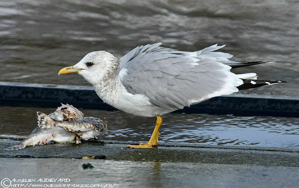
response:
<path fill-rule="evenodd" d="M 55 109 L 0 107 L 0 135 L 29 135 L 37 126 L 36 111 L 49 114 Z M 99 140 L 146 142 L 156 120 L 121 111 L 81 111 L 109 121 Z M 179 113 L 163 118 L 159 142 L 299 148 L 299 118 Z"/>

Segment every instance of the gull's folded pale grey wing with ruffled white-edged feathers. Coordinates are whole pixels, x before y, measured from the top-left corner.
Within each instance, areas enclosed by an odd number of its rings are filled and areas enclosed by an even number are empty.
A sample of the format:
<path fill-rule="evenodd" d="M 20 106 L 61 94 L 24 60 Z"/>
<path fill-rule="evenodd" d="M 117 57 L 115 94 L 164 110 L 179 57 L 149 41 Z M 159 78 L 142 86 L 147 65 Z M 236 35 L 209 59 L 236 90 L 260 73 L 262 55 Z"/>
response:
<path fill-rule="evenodd" d="M 120 59 L 119 77 L 129 93 L 143 94 L 165 109 L 182 109 L 237 92 L 236 86 L 243 83 L 221 63 L 232 55 L 211 52 L 223 46 L 183 52 L 160 45 L 136 47 Z"/>

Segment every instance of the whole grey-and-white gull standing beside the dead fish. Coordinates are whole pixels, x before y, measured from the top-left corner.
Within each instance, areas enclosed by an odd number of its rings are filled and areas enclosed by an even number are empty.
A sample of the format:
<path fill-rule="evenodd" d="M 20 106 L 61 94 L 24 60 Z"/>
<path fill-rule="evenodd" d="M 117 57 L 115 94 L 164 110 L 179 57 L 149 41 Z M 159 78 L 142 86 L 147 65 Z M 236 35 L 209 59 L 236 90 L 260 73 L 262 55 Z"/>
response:
<path fill-rule="evenodd" d="M 225 45 L 185 52 L 160 47 L 161 44 L 136 47 L 120 59 L 106 51 L 94 51 L 58 73 L 82 75 L 105 103 L 119 110 L 136 116 L 157 117 L 149 142 L 127 147 L 157 145 L 162 115 L 166 113 L 212 97 L 286 82 L 257 80 L 255 73 L 232 73 L 232 68 L 270 62 L 229 61 L 231 54 L 214 52 Z"/>

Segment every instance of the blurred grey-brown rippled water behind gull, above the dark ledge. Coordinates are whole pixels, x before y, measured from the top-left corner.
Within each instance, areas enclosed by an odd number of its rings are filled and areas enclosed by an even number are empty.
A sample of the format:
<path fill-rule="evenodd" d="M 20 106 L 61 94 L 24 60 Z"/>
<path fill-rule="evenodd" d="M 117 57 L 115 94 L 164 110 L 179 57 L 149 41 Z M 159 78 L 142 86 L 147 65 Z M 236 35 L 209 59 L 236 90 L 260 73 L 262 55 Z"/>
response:
<path fill-rule="evenodd" d="M 106 50 L 122 57 L 142 44 L 219 51 L 233 60 L 287 61 L 240 68 L 260 79 L 290 81 L 242 91 L 297 96 L 298 5 L 286 1 L 0 0 L 0 81 L 89 85 L 57 72 L 85 54 Z"/>

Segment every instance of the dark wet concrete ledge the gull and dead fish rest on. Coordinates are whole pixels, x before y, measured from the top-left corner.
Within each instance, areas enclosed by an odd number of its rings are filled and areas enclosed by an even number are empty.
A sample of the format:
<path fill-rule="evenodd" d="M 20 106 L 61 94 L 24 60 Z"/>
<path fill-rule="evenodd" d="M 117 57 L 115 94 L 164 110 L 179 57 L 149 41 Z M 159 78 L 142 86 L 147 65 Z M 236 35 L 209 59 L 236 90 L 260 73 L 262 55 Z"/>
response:
<path fill-rule="evenodd" d="M 83 158 L 97 159 L 194 162 L 216 164 L 240 164 L 263 166 L 299 166 L 299 149 L 263 148 L 249 146 L 212 146 L 201 144 L 160 143 L 157 148 L 131 149 L 127 144 L 137 142 L 90 141 L 82 144 L 46 144 L 21 150 L 6 151 L 4 148 L 17 144 L 23 138 L 0 138 L 2 158 Z"/>

